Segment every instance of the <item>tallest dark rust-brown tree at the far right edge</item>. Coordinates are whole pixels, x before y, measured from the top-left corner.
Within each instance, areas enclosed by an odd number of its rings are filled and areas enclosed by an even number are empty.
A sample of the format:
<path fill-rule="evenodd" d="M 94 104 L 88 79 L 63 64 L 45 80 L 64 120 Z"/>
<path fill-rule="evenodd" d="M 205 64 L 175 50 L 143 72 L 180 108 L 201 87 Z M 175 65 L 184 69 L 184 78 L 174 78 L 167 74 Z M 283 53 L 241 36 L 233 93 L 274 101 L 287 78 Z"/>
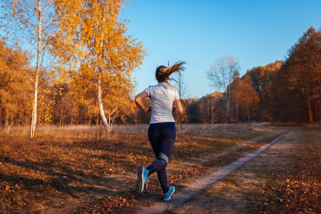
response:
<path fill-rule="evenodd" d="M 287 67 L 297 98 L 302 101 L 305 122 L 321 121 L 321 31 L 309 28 L 292 47 Z"/>

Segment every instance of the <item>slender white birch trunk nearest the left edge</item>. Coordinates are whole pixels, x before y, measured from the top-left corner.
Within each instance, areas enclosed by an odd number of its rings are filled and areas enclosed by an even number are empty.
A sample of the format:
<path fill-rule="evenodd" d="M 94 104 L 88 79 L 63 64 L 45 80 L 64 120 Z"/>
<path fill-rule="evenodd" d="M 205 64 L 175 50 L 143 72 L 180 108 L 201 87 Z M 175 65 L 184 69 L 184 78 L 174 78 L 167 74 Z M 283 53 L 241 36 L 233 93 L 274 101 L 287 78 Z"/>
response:
<path fill-rule="evenodd" d="M 38 82 L 39 82 L 39 71 L 40 71 L 40 53 L 41 53 L 41 0 L 38 0 L 38 45 L 37 45 L 37 66 L 36 66 L 36 75 L 34 81 L 34 98 L 32 103 L 32 118 L 31 118 L 31 130 L 30 137 L 34 138 L 36 133 L 36 124 L 37 124 L 37 102 L 38 102 Z"/>

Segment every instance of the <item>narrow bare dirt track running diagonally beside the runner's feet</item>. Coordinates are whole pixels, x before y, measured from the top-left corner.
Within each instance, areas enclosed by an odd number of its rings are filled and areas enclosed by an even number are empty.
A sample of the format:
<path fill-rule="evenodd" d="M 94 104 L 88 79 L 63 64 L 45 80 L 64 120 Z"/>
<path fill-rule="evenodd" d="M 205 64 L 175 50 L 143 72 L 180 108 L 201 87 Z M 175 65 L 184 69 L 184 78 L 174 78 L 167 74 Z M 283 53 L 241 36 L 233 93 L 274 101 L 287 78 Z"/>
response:
<path fill-rule="evenodd" d="M 261 148 L 253 151 L 252 153 L 249 153 L 248 155 L 246 155 L 246 157 L 240 158 L 234 163 L 224 166 L 222 168 L 218 168 L 215 172 L 209 174 L 208 176 L 203 177 L 202 179 L 198 179 L 197 181 L 185 184 L 183 188 L 176 188 L 176 191 L 173 194 L 171 201 L 169 202 L 159 201 L 153 204 L 151 207 L 141 206 L 141 209 L 137 213 L 139 214 L 172 213 L 172 211 L 175 209 L 176 209 L 175 213 L 207 213 L 207 212 L 204 212 L 204 210 L 199 212 L 197 212 L 197 210 L 189 212 L 188 210 L 184 209 L 185 207 L 184 205 L 186 204 L 187 201 L 190 201 L 193 197 L 197 196 L 197 194 L 199 194 L 200 192 L 203 192 L 205 189 L 211 187 L 218 181 L 224 179 L 226 176 L 233 173 L 240 166 L 244 166 L 247 162 L 257 157 L 257 155 L 264 152 L 270 146 L 272 146 L 281 138 L 283 138 L 284 135 L 286 134 L 287 133 L 283 133 L 279 135 L 279 137 L 274 139 L 272 142 L 262 146 Z M 206 202 L 206 200 L 204 202 Z M 224 211 L 222 213 L 232 213 L 230 211 L 229 212 Z M 239 213 L 239 212 L 236 210 L 235 213 Z"/>

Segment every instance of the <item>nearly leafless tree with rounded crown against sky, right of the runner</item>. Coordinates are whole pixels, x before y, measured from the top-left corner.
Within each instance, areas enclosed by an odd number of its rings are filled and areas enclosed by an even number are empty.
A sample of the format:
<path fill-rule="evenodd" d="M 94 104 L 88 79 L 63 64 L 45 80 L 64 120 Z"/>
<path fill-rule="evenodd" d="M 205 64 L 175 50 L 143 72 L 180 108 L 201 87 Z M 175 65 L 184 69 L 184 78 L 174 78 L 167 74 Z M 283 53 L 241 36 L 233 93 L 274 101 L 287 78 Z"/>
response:
<path fill-rule="evenodd" d="M 207 78 L 210 85 L 220 92 L 225 92 L 227 121 L 230 123 L 230 100 L 231 88 L 229 87 L 233 81 L 233 74 L 239 71 L 238 61 L 233 56 L 222 56 L 215 60 L 207 70 Z"/>

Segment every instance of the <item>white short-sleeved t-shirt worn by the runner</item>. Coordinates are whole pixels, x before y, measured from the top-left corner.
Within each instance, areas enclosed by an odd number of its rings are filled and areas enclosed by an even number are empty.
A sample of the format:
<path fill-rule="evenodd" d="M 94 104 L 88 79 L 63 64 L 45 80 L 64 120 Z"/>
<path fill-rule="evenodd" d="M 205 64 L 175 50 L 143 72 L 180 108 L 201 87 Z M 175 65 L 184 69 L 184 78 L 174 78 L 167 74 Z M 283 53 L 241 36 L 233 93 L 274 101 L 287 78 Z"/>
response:
<path fill-rule="evenodd" d="M 152 115 L 149 124 L 174 122 L 173 103 L 179 100 L 177 89 L 167 83 L 158 83 L 144 90 L 152 103 Z"/>

